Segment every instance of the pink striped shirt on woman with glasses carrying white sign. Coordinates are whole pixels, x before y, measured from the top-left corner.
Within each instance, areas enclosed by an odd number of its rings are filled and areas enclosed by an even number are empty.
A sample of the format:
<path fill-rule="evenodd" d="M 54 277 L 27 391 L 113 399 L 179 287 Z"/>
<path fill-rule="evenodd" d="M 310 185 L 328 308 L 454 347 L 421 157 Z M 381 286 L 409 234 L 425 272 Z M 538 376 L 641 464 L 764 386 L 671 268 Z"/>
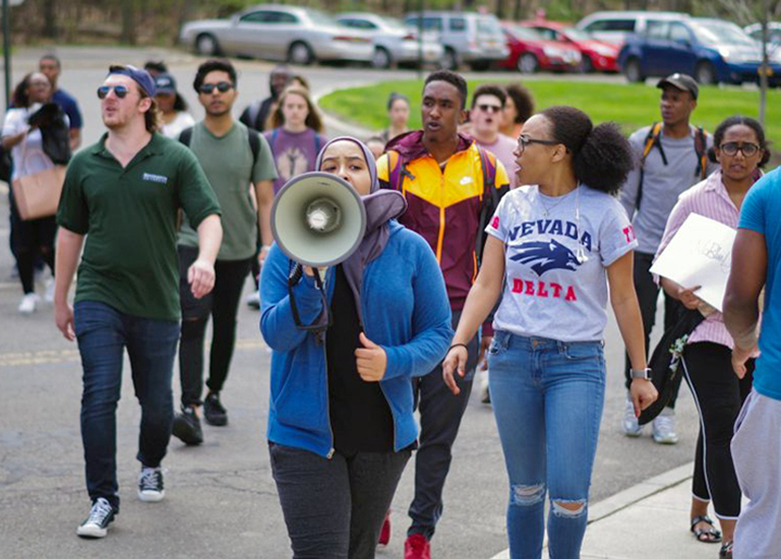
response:
<path fill-rule="evenodd" d="M 678 203 L 673 208 L 667 227 L 665 227 L 662 242 L 656 251 L 656 257 L 662 254 L 665 246 L 673 240 L 678 229 L 683 225 L 689 214 L 700 214 L 709 217 L 732 229 L 738 229 L 740 209 L 735 207 L 721 182 L 721 170 L 713 173 L 708 178 L 694 185 L 678 198 Z M 709 315 L 697 326 L 689 336 L 690 344 L 696 342 L 713 342 L 726 345 L 732 350 L 732 336 L 724 323 L 724 316 L 718 310 Z"/>

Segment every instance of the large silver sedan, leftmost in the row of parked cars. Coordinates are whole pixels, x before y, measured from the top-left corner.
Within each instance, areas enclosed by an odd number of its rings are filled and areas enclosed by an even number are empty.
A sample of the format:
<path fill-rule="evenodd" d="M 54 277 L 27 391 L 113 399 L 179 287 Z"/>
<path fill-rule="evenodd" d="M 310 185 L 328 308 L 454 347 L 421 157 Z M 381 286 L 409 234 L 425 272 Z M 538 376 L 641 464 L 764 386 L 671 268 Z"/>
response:
<path fill-rule="evenodd" d="M 205 55 L 226 54 L 286 60 L 371 62 L 374 46 L 361 31 L 337 23 L 320 10 L 263 4 L 230 20 L 204 20 L 182 26 L 179 39 Z"/>

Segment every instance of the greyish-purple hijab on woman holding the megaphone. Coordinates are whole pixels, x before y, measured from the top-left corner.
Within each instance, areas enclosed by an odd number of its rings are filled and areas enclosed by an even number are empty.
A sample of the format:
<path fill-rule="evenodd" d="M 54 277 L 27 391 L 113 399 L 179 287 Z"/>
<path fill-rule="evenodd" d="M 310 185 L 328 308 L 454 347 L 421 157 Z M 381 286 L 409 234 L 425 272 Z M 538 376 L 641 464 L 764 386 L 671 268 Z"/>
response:
<path fill-rule="evenodd" d="M 317 156 L 315 169 L 320 170 L 323 154 L 328 150 L 329 145 L 338 141 L 350 141 L 361 149 L 363 152 L 363 158 L 369 167 L 369 175 L 371 177 L 370 193 L 366 196 L 361 196 L 363 206 L 367 211 L 367 228 L 363 234 L 363 241 L 360 243 L 358 250 L 354 252 L 349 258 L 342 263 L 342 269 L 347 278 L 347 283 L 349 283 L 349 287 L 353 290 L 353 295 L 356 301 L 356 309 L 358 312 L 358 320 L 360 321 L 362 328 L 363 316 L 360 305 L 360 291 L 363 282 L 363 270 L 370 262 L 382 254 L 390 237 L 390 230 L 387 223 L 405 213 L 407 209 L 407 200 L 405 200 L 400 192 L 380 189 L 380 180 L 377 179 L 374 156 L 363 142 L 349 136 L 334 138 L 323 145 L 323 149 L 320 150 L 320 153 Z"/>

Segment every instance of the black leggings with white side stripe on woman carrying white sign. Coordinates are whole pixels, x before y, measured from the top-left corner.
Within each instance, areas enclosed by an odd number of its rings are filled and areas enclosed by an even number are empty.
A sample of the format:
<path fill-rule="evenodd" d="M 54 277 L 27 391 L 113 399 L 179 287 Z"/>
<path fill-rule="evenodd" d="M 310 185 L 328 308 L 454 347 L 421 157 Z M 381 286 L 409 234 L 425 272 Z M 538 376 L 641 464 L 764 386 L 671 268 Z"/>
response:
<path fill-rule="evenodd" d="M 754 359 L 748 372 L 739 379 L 732 370 L 729 347 L 700 342 L 683 352 L 683 371 L 700 411 L 700 436 L 694 458 L 692 494 L 713 500 L 716 516 L 737 520 L 741 509 L 730 442 L 741 406 L 752 388 Z"/>

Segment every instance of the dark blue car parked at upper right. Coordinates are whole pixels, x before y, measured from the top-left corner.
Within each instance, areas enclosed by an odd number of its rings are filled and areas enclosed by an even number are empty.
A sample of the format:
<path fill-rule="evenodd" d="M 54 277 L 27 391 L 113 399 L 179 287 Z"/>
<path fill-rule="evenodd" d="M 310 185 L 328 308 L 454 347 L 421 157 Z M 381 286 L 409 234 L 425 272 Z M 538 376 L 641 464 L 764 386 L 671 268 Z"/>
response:
<path fill-rule="evenodd" d="M 706 17 L 649 21 L 645 31 L 627 38 L 618 65 L 629 81 L 676 72 L 700 84 L 759 81 L 761 48 L 733 23 Z M 781 61 L 770 61 L 770 85 L 781 84 Z"/>

